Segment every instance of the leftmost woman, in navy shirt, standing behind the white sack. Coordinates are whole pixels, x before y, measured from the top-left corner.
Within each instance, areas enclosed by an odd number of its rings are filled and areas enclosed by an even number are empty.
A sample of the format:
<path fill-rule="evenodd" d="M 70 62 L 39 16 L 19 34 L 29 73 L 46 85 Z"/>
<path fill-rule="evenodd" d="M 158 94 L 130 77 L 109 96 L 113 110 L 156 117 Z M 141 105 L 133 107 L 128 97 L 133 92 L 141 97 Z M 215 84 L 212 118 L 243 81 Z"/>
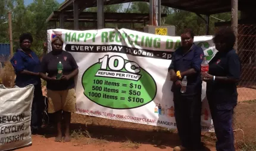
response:
<path fill-rule="evenodd" d="M 31 118 L 31 130 L 35 134 L 38 133 L 42 125 L 43 98 L 39 75 L 40 60 L 30 49 L 32 43 L 31 34 L 21 34 L 20 49 L 17 50 L 10 62 L 15 69 L 15 85 L 20 88 L 30 84 L 35 86 Z"/>

